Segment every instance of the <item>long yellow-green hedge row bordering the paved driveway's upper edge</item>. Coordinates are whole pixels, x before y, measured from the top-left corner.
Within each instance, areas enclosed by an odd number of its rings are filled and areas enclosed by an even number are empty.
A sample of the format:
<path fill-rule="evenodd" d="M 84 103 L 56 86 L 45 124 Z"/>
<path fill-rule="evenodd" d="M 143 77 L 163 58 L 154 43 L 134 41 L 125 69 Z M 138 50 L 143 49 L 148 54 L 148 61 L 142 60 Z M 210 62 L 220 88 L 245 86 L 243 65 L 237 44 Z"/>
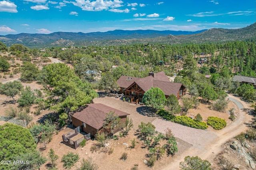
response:
<path fill-rule="evenodd" d="M 184 126 L 188 127 L 194 127 L 196 129 L 207 129 L 207 125 L 204 122 L 199 122 L 194 119 L 191 119 L 190 117 L 187 116 L 174 116 L 170 115 L 170 113 L 164 109 L 161 109 L 160 111 L 157 112 L 158 115 L 162 116 L 166 120 L 173 121 L 175 123 L 179 123 Z"/>

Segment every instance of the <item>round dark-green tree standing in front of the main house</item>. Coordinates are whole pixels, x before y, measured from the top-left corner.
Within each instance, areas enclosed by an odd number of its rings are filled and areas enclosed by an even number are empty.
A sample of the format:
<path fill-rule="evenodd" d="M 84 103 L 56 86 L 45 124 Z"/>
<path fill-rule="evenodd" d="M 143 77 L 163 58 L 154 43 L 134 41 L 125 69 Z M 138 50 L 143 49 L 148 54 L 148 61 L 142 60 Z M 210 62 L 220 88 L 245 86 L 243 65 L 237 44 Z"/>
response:
<path fill-rule="evenodd" d="M 152 107 L 153 111 L 156 113 L 159 109 L 164 108 L 166 104 L 164 92 L 158 87 L 152 87 L 144 93 L 142 103 Z"/>

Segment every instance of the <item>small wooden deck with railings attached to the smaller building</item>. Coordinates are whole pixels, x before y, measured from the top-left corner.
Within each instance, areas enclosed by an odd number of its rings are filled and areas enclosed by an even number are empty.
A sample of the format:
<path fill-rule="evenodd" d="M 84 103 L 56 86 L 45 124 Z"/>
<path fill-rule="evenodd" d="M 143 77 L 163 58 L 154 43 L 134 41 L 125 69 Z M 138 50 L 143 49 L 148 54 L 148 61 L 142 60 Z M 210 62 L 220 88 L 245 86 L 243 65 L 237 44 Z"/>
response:
<path fill-rule="evenodd" d="M 65 145 L 68 145 L 73 149 L 77 149 L 84 139 L 86 141 L 89 141 L 91 139 L 90 133 L 80 132 L 79 128 L 80 127 L 77 127 L 76 129 L 66 133 L 65 135 L 62 135 L 62 141 Z"/>

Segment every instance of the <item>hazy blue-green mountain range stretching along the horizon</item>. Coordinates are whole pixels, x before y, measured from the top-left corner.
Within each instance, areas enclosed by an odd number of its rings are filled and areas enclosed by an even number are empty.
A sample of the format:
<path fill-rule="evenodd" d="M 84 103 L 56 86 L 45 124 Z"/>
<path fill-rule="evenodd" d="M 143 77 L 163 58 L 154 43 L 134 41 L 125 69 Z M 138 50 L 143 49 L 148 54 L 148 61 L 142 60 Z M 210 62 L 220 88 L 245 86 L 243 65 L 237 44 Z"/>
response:
<path fill-rule="evenodd" d="M 126 45 L 131 43 L 204 43 L 223 42 L 256 37 L 256 23 L 240 29 L 212 28 L 200 31 L 114 30 L 107 32 L 0 35 L 7 46 L 23 44 L 27 47 L 64 47 L 88 45 Z"/>

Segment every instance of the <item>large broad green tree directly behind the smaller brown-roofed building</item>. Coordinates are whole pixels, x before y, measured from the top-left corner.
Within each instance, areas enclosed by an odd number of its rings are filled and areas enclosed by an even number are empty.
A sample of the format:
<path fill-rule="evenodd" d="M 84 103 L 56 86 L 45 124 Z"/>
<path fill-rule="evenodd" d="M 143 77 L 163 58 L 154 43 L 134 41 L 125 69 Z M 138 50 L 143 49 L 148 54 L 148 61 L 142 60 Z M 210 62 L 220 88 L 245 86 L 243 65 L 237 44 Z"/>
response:
<path fill-rule="evenodd" d="M 80 80 L 74 70 L 64 63 L 49 64 L 43 68 L 42 74 L 48 102 L 56 111 L 74 111 L 98 96 L 90 83 Z"/>

